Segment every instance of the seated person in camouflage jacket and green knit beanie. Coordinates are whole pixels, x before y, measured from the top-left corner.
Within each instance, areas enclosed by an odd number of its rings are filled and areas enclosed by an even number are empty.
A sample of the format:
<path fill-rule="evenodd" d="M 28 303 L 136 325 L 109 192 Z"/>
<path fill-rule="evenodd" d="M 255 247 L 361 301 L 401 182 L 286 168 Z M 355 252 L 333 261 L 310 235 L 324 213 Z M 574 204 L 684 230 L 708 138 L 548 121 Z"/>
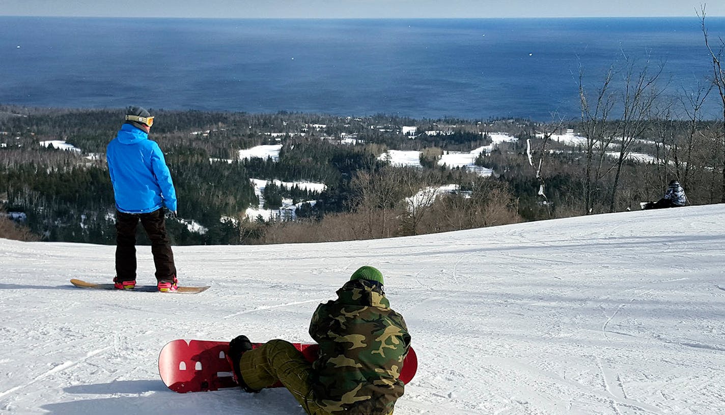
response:
<path fill-rule="evenodd" d="M 285 340 L 254 350 L 247 336 L 231 340 L 239 385 L 258 392 L 280 381 L 308 415 L 392 414 L 410 348 L 405 321 L 390 309 L 383 275 L 373 267 L 357 269 L 337 295 L 312 315 L 310 335 L 320 345 L 313 363 Z"/>

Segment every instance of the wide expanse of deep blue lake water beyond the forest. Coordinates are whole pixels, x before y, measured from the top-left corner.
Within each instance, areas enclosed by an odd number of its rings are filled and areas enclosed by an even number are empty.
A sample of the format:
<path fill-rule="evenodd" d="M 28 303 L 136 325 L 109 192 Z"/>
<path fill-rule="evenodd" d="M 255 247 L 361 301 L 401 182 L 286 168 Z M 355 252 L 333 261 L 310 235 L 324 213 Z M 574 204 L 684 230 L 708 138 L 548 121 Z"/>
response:
<path fill-rule="evenodd" d="M 711 40 L 725 18 L 708 18 Z M 711 75 L 697 17 L 205 20 L 0 17 L 0 103 L 410 117 L 579 116 L 585 80 L 663 64 Z M 649 56 L 649 57 L 648 57 Z M 714 95 L 708 114 L 716 117 Z M 720 112 L 721 114 L 721 112 Z"/>

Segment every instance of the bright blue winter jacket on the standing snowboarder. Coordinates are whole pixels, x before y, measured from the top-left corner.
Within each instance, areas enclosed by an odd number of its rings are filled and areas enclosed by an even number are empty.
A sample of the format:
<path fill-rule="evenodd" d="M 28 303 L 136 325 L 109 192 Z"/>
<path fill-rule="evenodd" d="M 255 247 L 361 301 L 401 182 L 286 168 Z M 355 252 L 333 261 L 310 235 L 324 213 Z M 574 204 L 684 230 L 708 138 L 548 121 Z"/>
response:
<path fill-rule="evenodd" d="M 176 210 L 176 190 L 159 145 L 144 130 L 124 124 L 106 148 L 116 209 L 149 213 Z"/>

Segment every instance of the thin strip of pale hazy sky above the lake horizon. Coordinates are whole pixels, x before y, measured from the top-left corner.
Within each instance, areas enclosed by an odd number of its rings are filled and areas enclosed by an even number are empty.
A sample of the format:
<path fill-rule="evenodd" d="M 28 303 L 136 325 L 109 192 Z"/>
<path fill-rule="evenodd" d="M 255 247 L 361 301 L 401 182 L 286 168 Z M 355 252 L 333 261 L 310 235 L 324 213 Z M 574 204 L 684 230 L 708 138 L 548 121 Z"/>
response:
<path fill-rule="evenodd" d="M 725 1 L 707 3 L 725 16 Z M 0 0 L 0 15 L 117 17 L 695 16 L 691 0 Z"/>

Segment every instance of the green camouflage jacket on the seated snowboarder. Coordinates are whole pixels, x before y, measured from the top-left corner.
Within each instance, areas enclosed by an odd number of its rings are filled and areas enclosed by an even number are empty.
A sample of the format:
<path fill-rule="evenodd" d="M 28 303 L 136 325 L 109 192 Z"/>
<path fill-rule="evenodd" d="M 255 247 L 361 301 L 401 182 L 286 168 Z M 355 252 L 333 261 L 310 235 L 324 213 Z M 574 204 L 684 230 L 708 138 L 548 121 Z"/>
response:
<path fill-rule="evenodd" d="M 410 348 L 405 320 L 373 282 L 352 280 L 320 304 L 310 335 L 320 344 L 312 390 L 333 415 L 386 415 L 403 394 L 398 377 Z"/>

